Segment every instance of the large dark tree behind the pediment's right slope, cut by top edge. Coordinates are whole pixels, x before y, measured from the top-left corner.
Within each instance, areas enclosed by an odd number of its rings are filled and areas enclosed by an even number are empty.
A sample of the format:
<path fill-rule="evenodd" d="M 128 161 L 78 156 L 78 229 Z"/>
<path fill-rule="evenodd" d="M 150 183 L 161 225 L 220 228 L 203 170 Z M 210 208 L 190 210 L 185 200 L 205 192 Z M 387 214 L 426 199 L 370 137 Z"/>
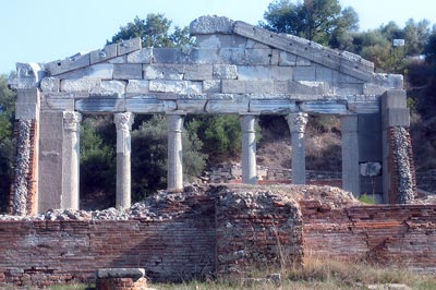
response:
<path fill-rule="evenodd" d="M 337 46 L 338 38 L 359 28 L 352 8 L 341 9 L 338 0 L 276 0 L 264 13 L 261 26 L 276 33 L 293 34 L 322 45 Z"/>

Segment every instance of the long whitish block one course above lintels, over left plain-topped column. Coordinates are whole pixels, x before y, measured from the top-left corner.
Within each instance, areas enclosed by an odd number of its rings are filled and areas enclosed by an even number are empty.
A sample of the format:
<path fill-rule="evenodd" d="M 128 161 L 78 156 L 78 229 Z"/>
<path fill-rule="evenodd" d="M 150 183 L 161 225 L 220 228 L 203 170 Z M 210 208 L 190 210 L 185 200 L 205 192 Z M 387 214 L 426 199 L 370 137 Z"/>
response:
<path fill-rule="evenodd" d="M 158 93 L 174 94 L 201 94 L 203 88 L 202 82 L 191 81 L 149 81 L 149 90 Z"/>

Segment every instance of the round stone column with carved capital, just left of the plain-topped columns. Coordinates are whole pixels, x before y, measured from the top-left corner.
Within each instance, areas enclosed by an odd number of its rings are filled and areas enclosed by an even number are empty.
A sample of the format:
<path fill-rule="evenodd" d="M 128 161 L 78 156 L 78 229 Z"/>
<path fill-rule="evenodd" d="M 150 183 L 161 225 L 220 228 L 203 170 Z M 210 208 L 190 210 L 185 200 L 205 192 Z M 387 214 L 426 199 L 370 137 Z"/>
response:
<path fill-rule="evenodd" d="M 131 131 L 134 114 L 131 112 L 116 113 L 113 122 L 117 126 L 117 201 L 116 206 L 131 206 Z"/>

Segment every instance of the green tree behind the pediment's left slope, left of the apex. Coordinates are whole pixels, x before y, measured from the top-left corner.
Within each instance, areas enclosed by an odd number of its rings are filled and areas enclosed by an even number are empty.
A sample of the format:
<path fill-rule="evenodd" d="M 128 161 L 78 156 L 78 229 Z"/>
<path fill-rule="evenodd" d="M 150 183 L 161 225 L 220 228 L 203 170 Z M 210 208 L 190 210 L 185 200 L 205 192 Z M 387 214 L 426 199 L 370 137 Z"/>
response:
<path fill-rule="evenodd" d="M 187 27 L 175 26 L 172 34 L 169 33 L 171 21 L 164 14 L 147 14 L 145 20 L 136 16 L 133 22 L 120 27 L 108 44 L 134 37 L 141 37 L 143 47 L 178 47 L 192 44 Z"/>

